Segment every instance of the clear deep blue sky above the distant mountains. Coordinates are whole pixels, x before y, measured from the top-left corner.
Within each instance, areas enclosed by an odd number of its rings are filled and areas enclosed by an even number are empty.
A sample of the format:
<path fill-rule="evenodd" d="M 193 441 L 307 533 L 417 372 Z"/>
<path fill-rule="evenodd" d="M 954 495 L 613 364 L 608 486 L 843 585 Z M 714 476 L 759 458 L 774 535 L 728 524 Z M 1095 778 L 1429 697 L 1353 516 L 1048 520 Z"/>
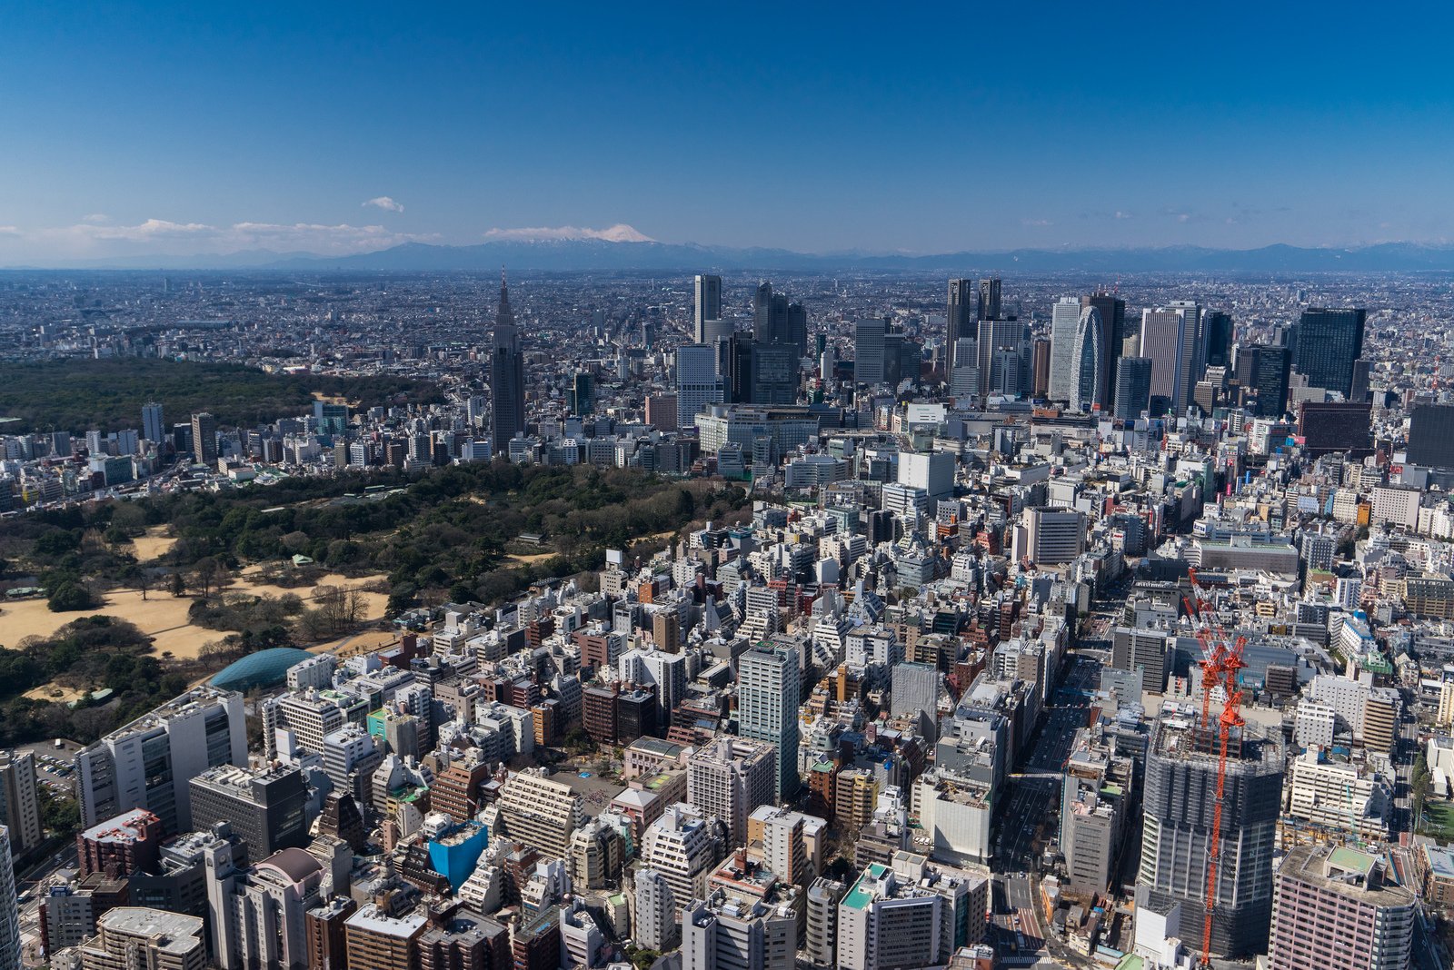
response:
<path fill-rule="evenodd" d="M 10 4 L 0 264 L 1454 238 L 1448 6 L 1296 6 Z"/>

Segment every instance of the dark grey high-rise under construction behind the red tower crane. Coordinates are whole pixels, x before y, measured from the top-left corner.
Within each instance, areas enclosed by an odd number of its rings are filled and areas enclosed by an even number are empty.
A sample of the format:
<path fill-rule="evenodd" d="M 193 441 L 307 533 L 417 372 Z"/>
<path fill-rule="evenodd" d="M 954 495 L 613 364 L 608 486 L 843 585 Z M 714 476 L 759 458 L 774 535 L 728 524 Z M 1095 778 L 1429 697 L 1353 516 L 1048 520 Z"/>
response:
<path fill-rule="evenodd" d="M 1152 729 L 1143 794 L 1137 883 L 1152 909 L 1181 905 L 1182 926 L 1201 925 L 1217 800 L 1217 732 L 1195 714 L 1162 714 Z M 1234 729 L 1227 746 L 1211 953 L 1239 957 L 1268 938 L 1272 847 L 1282 800 L 1282 743 L 1256 725 Z"/>

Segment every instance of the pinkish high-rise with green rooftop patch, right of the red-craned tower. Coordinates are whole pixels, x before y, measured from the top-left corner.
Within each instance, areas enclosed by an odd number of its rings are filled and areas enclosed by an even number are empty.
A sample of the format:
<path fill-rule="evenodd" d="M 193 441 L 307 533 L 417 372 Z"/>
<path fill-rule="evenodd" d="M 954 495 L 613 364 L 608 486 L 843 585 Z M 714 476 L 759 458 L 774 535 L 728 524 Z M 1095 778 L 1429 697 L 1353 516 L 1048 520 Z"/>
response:
<path fill-rule="evenodd" d="M 1298 845 L 1277 871 L 1269 970 L 1403 970 L 1418 899 L 1387 879 L 1377 855 Z"/>

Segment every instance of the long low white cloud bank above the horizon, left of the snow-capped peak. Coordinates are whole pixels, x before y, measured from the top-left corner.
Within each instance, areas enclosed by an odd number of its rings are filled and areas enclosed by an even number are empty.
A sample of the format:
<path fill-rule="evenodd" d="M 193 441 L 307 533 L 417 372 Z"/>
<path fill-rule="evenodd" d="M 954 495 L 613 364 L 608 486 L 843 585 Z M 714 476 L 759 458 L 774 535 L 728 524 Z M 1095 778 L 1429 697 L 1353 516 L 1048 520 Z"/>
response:
<path fill-rule="evenodd" d="M 278 253 L 317 253 L 346 256 L 371 253 L 400 242 L 438 241 L 438 234 L 395 232 L 382 225 L 320 225 L 314 222 L 172 222 L 147 219 L 138 225 L 77 225 L 41 229 L 33 235 L 38 248 L 58 256 L 118 256 L 160 253 L 190 256 L 196 253 L 237 253 L 272 250 Z M 160 247 L 160 248 L 158 248 Z"/>

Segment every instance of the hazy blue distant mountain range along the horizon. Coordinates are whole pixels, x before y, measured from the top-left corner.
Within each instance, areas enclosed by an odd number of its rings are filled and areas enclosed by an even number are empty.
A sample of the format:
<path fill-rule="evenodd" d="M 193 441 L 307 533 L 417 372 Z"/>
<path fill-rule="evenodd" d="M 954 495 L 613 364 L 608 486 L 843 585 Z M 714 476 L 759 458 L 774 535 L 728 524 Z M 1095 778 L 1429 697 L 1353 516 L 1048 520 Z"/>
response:
<path fill-rule="evenodd" d="M 1143 248 L 1008 250 L 899 256 L 810 254 L 774 248 L 728 248 L 605 240 L 491 240 L 475 245 L 406 242 L 377 253 L 321 257 L 250 250 L 233 254 L 153 256 L 93 260 L 79 269 L 288 270 L 288 272 L 939 272 L 939 273 L 1387 273 L 1454 272 L 1454 245 L 1381 242 L 1352 248 L 1265 245 L 1213 250 L 1197 245 Z"/>

